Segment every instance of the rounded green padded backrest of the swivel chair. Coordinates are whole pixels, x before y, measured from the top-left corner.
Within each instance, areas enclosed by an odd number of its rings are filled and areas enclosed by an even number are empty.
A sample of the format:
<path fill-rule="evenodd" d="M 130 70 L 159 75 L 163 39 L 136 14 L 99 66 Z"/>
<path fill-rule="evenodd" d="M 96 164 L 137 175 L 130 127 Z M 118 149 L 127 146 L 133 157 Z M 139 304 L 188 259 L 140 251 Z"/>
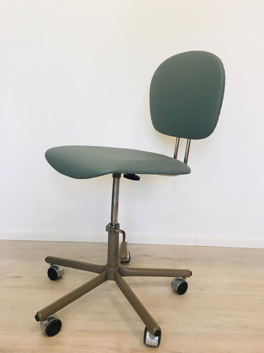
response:
<path fill-rule="evenodd" d="M 154 128 L 179 138 L 208 137 L 218 121 L 224 84 L 223 64 L 214 54 L 191 51 L 168 58 L 151 81 Z"/>

